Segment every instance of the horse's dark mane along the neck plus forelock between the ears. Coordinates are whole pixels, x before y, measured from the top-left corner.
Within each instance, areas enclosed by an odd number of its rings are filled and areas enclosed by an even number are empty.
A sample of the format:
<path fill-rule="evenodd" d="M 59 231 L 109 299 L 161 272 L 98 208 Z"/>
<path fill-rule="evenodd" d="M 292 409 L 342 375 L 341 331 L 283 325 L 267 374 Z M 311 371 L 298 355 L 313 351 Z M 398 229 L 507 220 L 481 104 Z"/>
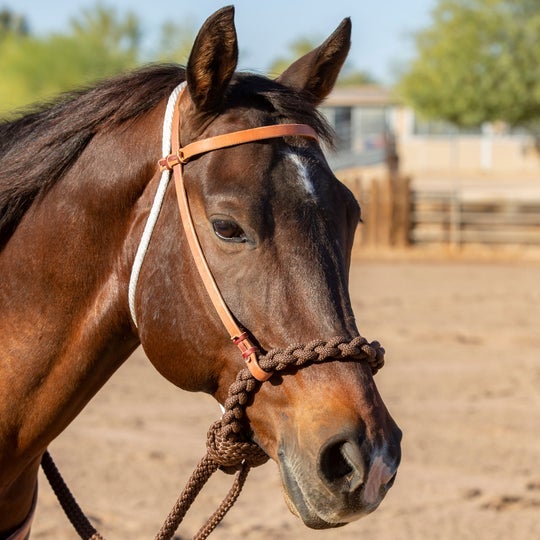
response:
<path fill-rule="evenodd" d="M 69 171 L 96 133 L 140 118 L 183 80 L 181 66 L 146 66 L 62 94 L 0 123 L 0 249 L 32 202 Z M 276 122 L 294 118 L 312 125 L 328 143 L 332 139 L 309 96 L 266 77 L 236 74 L 226 102 L 227 107 L 250 104 L 270 111 Z"/>

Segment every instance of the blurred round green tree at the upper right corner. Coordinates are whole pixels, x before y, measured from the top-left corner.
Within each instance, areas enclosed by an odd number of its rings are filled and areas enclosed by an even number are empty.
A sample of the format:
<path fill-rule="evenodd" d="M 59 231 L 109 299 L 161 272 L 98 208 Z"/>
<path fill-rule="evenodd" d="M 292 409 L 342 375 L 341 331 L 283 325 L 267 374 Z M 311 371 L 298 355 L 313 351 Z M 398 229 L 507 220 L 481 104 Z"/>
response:
<path fill-rule="evenodd" d="M 540 134 L 539 0 L 440 0 L 398 90 L 427 118 Z"/>

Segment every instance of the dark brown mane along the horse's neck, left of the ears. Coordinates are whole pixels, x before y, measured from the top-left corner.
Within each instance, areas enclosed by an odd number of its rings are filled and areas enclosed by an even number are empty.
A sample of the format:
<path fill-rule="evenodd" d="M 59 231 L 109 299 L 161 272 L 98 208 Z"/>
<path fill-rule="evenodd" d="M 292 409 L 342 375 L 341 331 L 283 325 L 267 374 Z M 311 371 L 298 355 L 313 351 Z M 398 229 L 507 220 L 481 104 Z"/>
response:
<path fill-rule="evenodd" d="M 184 78 L 179 66 L 145 67 L 66 93 L 0 124 L 0 245 L 98 131 L 145 114 Z"/>

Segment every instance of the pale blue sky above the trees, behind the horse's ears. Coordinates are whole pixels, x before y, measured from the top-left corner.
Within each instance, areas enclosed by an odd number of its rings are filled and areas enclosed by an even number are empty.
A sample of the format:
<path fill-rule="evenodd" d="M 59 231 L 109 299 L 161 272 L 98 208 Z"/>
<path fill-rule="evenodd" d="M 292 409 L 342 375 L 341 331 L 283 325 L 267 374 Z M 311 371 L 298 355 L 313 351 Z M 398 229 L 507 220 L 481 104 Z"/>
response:
<path fill-rule="evenodd" d="M 264 72 L 275 59 L 289 57 L 299 37 L 322 42 L 344 17 L 353 24 L 349 62 L 383 84 L 391 84 L 400 65 L 414 56 L 412 35 L 429 25 L 436 0 L 101 0 L 139 16 L 148 46 L 172 18 L 197 30 L 214 11 L 233 3 L 240 47 L 240 69 Z M 26 16 L 36 34 L 61 32 L 70 19 L 96 0 L 0 0 Z"/>

